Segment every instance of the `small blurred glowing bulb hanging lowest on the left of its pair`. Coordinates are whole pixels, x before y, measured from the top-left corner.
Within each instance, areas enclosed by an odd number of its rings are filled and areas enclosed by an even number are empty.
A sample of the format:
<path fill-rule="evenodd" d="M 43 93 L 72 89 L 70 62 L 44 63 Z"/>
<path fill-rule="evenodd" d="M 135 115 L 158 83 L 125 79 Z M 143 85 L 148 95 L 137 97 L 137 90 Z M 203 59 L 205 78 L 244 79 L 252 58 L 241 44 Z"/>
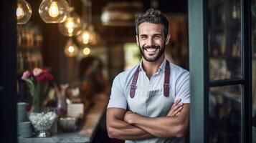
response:
<path fill-rule="evenodd" d="M 69 39 L 67 41 L 67 44 L 65 46 L 65 49 L 64 49 L 64 53 L 67 57 L 74 57 L 74 56 L 77 56 L 78 54 L 78 48 L 77 48 L 77 45 L 75 45 L 75 43 L 72 41 L 72 39 Z"/>

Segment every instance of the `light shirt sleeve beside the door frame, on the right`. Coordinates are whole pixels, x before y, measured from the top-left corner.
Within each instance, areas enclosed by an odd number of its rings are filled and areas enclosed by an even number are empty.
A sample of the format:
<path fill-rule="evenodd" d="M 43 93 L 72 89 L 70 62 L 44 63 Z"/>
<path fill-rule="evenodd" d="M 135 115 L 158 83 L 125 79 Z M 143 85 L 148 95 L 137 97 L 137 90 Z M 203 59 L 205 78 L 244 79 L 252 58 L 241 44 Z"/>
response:
<path fill-rule="evenodd" d="M 181 99 L 182 103 L 190 103 L 189 71 L 182 73 L 176 81 L 176 99 Z"/>

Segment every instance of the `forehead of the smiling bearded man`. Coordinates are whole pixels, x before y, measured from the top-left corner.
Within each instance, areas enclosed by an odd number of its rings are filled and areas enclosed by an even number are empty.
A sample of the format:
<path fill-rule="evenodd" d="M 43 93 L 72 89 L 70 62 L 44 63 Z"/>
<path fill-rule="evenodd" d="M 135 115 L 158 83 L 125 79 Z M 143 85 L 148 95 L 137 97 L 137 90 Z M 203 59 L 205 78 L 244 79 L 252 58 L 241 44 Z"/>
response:
<path fill-rule="evenodd" d="M 143 22 L 138 26 L 138 33 L 141 34 L 163 34 L 163 24 Z"/>

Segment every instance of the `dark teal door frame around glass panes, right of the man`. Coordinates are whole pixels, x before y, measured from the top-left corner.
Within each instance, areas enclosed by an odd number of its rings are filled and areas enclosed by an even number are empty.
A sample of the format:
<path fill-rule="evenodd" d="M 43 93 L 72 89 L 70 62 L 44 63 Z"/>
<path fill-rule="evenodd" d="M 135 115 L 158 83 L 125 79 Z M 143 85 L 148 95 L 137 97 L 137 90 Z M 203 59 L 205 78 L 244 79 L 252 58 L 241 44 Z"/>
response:
<path fill-rule="evenodd" d="M 189 0 L 189 68 L 191 87 L 190 142 L 209 139 L 209 88 L 242 85 L 241 142 L 252 142 L 252 46 L 251 1 L 241 2 L 242 77 L 209 81 L 208 1 Z"/>

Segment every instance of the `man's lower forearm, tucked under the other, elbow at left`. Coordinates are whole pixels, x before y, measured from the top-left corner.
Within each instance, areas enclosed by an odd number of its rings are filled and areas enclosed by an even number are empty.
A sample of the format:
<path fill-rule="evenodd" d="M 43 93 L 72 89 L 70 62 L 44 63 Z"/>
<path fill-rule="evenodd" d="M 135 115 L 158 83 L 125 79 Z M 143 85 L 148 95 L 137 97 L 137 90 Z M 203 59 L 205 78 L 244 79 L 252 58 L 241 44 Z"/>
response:
<path fill-rule="evenodd" d="M 151 134 L 145 132 L 143 129 L 135 127 L 127 122 L 115 119 L 111 123 L 107 124 L 108 135 L 112 138 L 122 140 L 134 140 L 134 139 L 147 139 L 152 137 Z"/>

